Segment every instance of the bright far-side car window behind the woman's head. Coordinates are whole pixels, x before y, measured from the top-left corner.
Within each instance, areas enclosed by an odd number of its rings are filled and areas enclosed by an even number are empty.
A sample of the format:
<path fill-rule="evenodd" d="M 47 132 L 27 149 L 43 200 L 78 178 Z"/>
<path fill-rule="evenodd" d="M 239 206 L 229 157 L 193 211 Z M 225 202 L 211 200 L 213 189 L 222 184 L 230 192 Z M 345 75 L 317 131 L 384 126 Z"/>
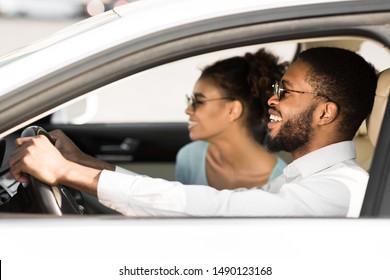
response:
<path fill-rule="evenodd" d="M 198 55 L 137 73 L 90 93 L 53 115 L 56 124 L 184 122 L 185 95 L 192 92 L 201 69 L 217 60 L 261 47 L 281 61 L 291 61 L 297 44 L 253 45 Z"/>

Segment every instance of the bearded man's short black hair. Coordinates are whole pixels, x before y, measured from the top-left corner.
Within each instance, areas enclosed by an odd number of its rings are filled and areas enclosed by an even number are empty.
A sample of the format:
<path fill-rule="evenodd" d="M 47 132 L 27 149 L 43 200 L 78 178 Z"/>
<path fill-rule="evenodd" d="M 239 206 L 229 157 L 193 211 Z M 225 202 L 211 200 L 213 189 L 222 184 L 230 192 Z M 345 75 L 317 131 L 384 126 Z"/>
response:
<path fill-rule="evenodd" d="M 314 92 L 337 103 L 340 133 L 352 139 L 374 104 L 375 68 L 360 55 L 334 47 L 308 49 L 297 59 L 310 66 L 306 79 Z"/>

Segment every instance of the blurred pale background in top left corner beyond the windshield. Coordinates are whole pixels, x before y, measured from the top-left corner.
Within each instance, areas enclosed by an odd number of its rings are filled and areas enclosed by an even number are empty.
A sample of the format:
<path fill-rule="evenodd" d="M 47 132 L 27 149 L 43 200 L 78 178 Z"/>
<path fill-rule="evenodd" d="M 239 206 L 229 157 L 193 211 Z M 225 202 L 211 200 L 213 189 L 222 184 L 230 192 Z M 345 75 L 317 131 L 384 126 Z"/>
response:
<path fill-rule="evenodd" d="M 0 0 L 0 55 L 135 0 Z"/>

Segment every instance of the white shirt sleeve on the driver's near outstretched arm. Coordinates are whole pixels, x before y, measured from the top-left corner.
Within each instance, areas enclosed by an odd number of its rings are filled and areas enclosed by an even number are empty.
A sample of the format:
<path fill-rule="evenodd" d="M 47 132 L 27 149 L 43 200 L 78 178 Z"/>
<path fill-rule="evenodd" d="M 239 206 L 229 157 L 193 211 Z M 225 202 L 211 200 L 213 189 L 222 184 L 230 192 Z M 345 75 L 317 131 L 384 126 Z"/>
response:
<path fill-rule="evenodd" d="M 216 190 L 147 176 L 103 170 L 98 183 L 101 203 L 138 217 L 307 216 L 294 200 L 258 188 Z"/>

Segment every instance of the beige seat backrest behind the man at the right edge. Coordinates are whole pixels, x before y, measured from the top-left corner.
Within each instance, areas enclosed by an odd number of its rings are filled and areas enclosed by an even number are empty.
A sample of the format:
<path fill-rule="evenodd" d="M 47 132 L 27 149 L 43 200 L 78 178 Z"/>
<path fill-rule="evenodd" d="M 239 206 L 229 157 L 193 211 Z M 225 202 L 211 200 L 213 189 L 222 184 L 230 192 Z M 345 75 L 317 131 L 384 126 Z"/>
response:
<path fill-rule="evenodd" d="M 367 121 L 367 133 L 372 145 L 375 147 L 385 114 L 387 99 L 390 93 L 390 68 L 378 75 L 378 85 L 375 93 L 374 106 Z"/>

